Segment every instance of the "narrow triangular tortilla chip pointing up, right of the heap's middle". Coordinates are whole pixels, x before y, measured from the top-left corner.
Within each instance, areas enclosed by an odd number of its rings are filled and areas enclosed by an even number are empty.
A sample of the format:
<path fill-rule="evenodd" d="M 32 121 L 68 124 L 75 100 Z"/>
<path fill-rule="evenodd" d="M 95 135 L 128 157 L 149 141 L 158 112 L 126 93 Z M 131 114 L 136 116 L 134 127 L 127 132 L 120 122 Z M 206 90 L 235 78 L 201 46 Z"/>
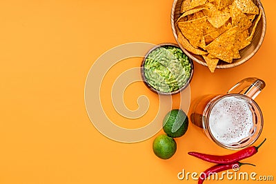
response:
<path fill-rule="evenodd" d="M 246 14 L 241 12 L 237 6 L 230 6 L 230 14 L 232 17 L 232 25 L 237 25 L 239 31 L 247 30 L 252 25 Z"/>

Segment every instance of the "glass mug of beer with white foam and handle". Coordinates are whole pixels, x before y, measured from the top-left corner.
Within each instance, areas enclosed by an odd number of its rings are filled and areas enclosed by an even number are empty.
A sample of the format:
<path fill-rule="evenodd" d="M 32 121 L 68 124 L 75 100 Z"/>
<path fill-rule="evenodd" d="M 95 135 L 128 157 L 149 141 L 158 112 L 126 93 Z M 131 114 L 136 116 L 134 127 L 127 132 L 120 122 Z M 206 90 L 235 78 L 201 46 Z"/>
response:
<path fill-rule="evenodd" d="M 247 147 L 262 132 L 264 119 L 254 99 L 265 86 L 264 81 L 252 77 L 237 83 L 227 94 L 201 96 L 192 103 L 190 120 L 221 147 Z"/>

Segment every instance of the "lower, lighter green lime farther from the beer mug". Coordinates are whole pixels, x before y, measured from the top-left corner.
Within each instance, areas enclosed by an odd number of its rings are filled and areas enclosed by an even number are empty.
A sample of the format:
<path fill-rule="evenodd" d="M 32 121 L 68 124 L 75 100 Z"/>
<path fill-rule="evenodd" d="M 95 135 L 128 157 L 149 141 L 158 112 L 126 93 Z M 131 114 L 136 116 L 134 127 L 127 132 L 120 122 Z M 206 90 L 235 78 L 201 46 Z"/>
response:
<path fill-rule="evenodd" d="M 170 159 L 177 151 L 177 143 L 172 137 L 163 134 L 155 138 L 152 149 L 160 159 Z"/>

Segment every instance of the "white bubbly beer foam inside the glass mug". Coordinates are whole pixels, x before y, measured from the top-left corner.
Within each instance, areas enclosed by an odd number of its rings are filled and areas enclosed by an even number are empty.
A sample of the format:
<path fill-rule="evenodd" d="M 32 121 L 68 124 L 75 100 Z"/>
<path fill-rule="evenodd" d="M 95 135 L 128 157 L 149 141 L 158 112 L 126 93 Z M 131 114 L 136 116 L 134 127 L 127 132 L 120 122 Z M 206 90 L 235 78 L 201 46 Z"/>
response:
<path fill-rule="evenodd" d="M 210 132 L 223 144 L 238 143 L 249 137 L 253 125 L 253 114 L 244 99 L 227 96 L 210 112 Z"/>

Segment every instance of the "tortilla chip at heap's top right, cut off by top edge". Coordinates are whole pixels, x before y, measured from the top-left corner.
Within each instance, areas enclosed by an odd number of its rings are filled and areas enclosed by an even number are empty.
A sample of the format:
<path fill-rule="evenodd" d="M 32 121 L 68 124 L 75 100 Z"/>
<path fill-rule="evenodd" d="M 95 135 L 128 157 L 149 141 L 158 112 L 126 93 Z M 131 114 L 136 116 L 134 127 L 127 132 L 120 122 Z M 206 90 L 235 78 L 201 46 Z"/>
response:
<path fill-rule="evenodd" d="M 259 8 L 251 0 L 235 0 L 233 5 L 243 13 L 259 14 Z"/>

